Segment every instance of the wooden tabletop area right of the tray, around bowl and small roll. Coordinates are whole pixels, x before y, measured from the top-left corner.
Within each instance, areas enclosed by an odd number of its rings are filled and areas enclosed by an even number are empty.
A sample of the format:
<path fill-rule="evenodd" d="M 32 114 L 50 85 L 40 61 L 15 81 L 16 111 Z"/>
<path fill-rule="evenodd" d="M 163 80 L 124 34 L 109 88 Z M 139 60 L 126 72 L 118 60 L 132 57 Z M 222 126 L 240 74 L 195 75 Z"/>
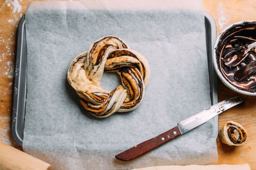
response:
<path fill-rule="evenodd" d="M 214 17 L 217 34 L 225 27 L 241 20 L 256 20 L 256 1 L 236 0 L 203 0 L 204 9 Z M 223 83 L 218 83 L 219 101 L 232 96 L 238 96 L 236 92 L 228 89 Z M 241 96 L 241 95 L 240 95 Z M 232 147 L 220 143 L 218 145 L 219 164 L 250 164 L 256 169 L 256 97 L 243 96 L 245 104 L 243 108 L 233 108 L 219 116 L 221 128 L 228 120 L 233 120 L 244 126 L 248 132 L 248 141 L 243 146 Z"/>

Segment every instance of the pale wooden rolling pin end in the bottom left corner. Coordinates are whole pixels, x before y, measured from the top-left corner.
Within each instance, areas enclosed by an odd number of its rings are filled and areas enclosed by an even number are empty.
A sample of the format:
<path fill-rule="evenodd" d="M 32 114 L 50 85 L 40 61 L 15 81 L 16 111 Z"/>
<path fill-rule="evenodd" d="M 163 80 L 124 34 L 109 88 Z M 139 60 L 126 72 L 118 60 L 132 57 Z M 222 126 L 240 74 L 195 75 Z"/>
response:
<path fill-rule="evenodd" d="M 51 165 L 0 142 L 0 169 L 51 170 Z"/>

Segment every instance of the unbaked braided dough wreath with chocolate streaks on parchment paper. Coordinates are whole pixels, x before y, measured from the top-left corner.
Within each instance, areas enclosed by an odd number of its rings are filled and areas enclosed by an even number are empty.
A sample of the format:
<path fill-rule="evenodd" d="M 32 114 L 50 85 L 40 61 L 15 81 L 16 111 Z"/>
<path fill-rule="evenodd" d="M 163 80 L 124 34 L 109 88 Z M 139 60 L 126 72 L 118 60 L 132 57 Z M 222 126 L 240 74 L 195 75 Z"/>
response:
<path fill-rule="evenodd" d="M 117 72 L 122 85 L 109 92 L 100 87 L 104 72 Z M 106 36 L 72 61 L 68 83 L 80 103 L 95 117 L 109 117 L 116 111 L 132 111 L 140 104 L 150 76 L 147 59 L 131 50 L 120 38 Z"/>

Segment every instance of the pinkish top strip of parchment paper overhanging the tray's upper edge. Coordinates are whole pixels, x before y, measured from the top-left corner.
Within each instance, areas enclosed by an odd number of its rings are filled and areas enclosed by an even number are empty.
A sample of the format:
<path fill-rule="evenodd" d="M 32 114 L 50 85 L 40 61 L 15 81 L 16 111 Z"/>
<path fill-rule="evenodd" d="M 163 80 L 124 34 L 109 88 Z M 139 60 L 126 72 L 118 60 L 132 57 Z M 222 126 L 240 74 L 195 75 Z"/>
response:
<path fill-rule="evenodd" d="M 202 1 L 186 1 L 180 0 L 179 3 L 172 3 L 170 0 L 137 0 L 137 1 L 125 1 L 125 0 L 88 0 L 88 1 L 34 1 L 29 2 L 26 12 L 30 10 L 170 10 L 170 9 L 182 9 L 189 11 L 202 11 Z"/>

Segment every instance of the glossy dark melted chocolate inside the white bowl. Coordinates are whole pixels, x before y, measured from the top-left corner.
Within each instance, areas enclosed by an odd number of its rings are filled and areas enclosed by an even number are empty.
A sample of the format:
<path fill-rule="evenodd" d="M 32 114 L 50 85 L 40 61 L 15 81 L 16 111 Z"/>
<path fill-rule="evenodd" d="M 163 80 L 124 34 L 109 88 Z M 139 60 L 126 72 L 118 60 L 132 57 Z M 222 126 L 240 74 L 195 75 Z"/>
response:
<path fill-rule="evenodd" d="M 216 46 L 218 69 L 223 77 L 237 89 L 256 92 L 256 73 L 249 74 L 241 81 L 234 79 L 234 73 L 256 60 L 256 50 L 252 48 L 244 55 L 244 50 L 256 41 L 256 22 L 234 24 L 223 32 Z"/>

